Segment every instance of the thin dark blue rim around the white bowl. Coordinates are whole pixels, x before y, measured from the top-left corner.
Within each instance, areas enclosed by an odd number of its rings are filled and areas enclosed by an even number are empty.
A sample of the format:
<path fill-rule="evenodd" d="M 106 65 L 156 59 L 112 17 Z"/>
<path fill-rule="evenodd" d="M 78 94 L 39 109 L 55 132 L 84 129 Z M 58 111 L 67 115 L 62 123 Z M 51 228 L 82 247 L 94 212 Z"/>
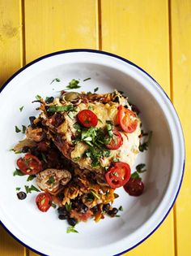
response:
<path fill-rule="evenodd" d="M 0 89 L 0 93 L 2 92 L 2 90 L 6 87 L 6 85 L 8 85 L 11 80 L 13 80 L 15 78 L 15 76 L 19 75 L 19 73 L 23 72 L 23 70 L 25 70 L 26 68 L 32 66 L 34 63 L 37 63 L 39 62 L 40 60 L 42 59 L 47 59 L 49 57 L 52 57 L 54 55 L 58 55 L 58 54 L 67 54 L 67 53 L 76 53 L 76 52 L 89 52 L 89 53 L 96 53 L 96 54 L 104 54 L 104 55 L 108 55 L 110 57 L 113 57 L 113 58 L 116 58 L 116 59 L 121 59 L 122 61 L 124 61 L 125 63 L 128 63 L 130 64 L 131 66 L 134 66 L 134 67 L 137 67 L 138 70 L 142 71 L 144 74 L 146 74 L 146 76 L 149 76 L 151 78 L 151 80 L 155 81 L 155 85 L 157 85 L 159 87 L 159 89 L 162 90 L 162 92 L 166 95 L 166 97 L 168 98 L 169 102 L 171 103 L 175 113 L 176 113 L 176 117 L 177 119 L 179 120 L 179 123 L 180 123 L 180 118 L 176 112 L 176 109 L 175 107 L 173 106 L 170 98 L 168 97 L 167 93 L 165 93 L 165 91 L 163 90 L 163 88 L 159 85 L 159 83 L 151 76 L 149 75 L 145 70 L 142 69 L 142 67 L 138 67 L 138 65 L 132 63 L 131 61 L 129 61 L 128 59 L 125 59 L 121 56 L 118 56 L 117 54 L 111 54 L 111 53 L 108 53 L 106 51 L 103 51 L 103 50 L 91 50 L 91 49 L 70 49 L 70 50 L 61 50 L 61 51 L 57 51 L 57 52 L 53 52 L 51 54 L 46 54 L 38 59 L 35 59 L 33 60 L 31 63 L 28 63 L 26 66 L 24 67 L 21 67 L 19 69 L 18 72 L 15 72 L 15 74 L 13 76 L 11 76 L 11 78 L 9 78 L 8 80 L 6 80 L 6 83 L 4 85 L 2 85 L 1 89 Z M 181 128 L 181 132 L 182 132 L 182 138 L 183 138 L 183 141 L 184 141 L 184 146 L 185 146 L 185 139 L 184 139 L 184 136 L 183 136 L 183 129 L 181 127 L 181 123 L 180 123 L 180 128 Z M 176 192 L 176 197 L 174 199 L 174 201 L 172 202 L 172 205 L 169 207 L 166 215 L 164 215 L 163 219 L 159 222 L 159 224 L 146 236 L 144 237 L 141 241 L 139 241 L 136 245 L 130 247 L 129 249 L 125 249 L 124 251 L 122 251 L 121 253 L 119 254 L 114 254 L 113 256 L 119 256 L 121 254 L 125 254 L 126 252 L 128 252 L 129 250 L 131 249 L 134 249 L 135 247 L 137 247 L 138 245 L 140 245 L 143 241 L 145 241 L 149 236 L 151 236 L 152 233 L 154 233 L 156 231 L 157 228 L 159 228 L 159 226 L 163 223 L 164 219 L 167 218 L 169 212 L 172 210 L 172 206 L 174 205 L 174 203 L 176 202 L 176 198 L 180 192 L 180 187 L 181 187 L 181 184 L 182 184 L 182 180 L 183 180 L 183 176 L 184 176 L 184 172 L 185 172 L 185 150 L 184 150 L 184 162 L 183 162 L 183 167 L 182 167 L 182 175 L 181 175 L 181 179 L 180 179 L 180 184 L 179 184 L 179 187 L 178 187 L 178 190 Z M 48 254 L 43 254 L 43 253 L 40 253 L 39 251 L 37 251 L 36 249 L 33 249 L 32 247 L 30 247 L 29 245 L 26 245 L 23 243 L 23 241 L 20 241 L 19 238 L 17 238 L 13 233 L 11 233 L 11 231 L 6 228 L 6 226 L 2 223 L 2 221 L 0 220 L 0 224 L 2 225 L 3 228 L 6 229 L 6 232 L 8 232 L 11 236 L 13 236 L 15 238 L 16 241 L 19 241 L 19 243 L 21 245 L 24 245 L 25 247 L 27 247 L 28 249 L 31 249 L 32 251 L 34 251 L 36 254 L 41 254 L 43 256 L 49 256 Z"/>

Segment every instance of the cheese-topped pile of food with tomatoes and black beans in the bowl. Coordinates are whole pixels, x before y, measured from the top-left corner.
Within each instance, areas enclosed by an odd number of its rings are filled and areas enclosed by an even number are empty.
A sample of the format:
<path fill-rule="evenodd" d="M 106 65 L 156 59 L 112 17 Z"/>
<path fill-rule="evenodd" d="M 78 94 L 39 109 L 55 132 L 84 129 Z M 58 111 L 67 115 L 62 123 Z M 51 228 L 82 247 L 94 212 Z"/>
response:
<path fill-rule="evenodd" d="M 145 170 L 139 167 L 131 177 L 141 120 L 125 96 L 117 90 L 62 91 L 58 98 L 38 96 L 37 102 L 40 115 L 29 118 L 26 138 L 14 150 L 23 153 L 16 162 L 19 175 L 29 175 L 43 191 L 36 197 L 40 211 L 58 206 L 59 219 L 67 219 L 70 226 L 90 218 L 97 222 L 104 215 L 117 215 L 112 206 L 117 188 L 133 196 L 142 193 L 138 172 Z M 38 191 L 34 188 L 28 192 Z"/>

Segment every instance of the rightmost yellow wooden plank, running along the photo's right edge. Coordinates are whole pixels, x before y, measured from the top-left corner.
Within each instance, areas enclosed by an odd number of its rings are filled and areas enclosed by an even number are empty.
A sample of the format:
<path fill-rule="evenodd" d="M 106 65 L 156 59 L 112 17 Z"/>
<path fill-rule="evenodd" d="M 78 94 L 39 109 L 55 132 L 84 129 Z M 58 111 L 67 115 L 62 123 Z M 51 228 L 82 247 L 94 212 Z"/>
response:
<path fill-rule="evenodd" d="M 185 177 L 176 202 L 177 256 L 191 255 L 191 2 L 171 2 L 173 103 L 185 134 Z"/>

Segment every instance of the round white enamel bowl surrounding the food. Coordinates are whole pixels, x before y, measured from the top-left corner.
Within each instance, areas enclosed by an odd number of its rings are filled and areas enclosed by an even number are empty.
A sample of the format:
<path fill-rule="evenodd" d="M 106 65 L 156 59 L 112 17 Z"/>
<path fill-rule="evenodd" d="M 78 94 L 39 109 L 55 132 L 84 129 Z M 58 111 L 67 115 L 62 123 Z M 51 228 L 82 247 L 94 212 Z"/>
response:
<path fill-rule="evenodd" d="M 91 80 L 83 81 L 87 77 Z M 59 78 L 61 82 L 50 82 Z M 37 115 L 36 94 L 56 96 L 71 79 L 80 79 L 79 91 L 98 93 L 122 90 L 141 111 L 145 130 L 153 131 L 148 151 L 137 162 L 146 163 L 145 192 L 130 197 L 117 189 L 115 206 L 123 206 L 120 218 L 79 223 L 79 234 L 66 233 L 67 224 L 51 208 L 36 209 L 36 193 L 19 201 L 15 188 L 27 184 L 26 177 L 13 176 L 18 154 L 9 149 L 22 139 L 15 125 L 28 125 Z M 141 68 L 113 54 L 96 50 L 67 50 L 46 55 L 17 72 L 0 93 L 0 220 L 17 240 L 45 255 L 117 255 L 134 248 L 150 236 L 168 215 L 176 200 L 184 172 L 185 145 L 180 121 L 163 89 Z M 19 107 L 23 111 L 19 111 Z"/>

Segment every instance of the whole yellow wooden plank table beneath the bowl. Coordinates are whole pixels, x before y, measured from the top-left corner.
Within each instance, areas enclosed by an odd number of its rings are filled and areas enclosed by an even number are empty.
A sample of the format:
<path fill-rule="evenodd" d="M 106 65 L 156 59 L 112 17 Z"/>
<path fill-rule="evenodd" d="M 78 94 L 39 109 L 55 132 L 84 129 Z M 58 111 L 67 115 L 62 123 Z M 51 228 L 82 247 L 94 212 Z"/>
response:
<path fill-rule="evenodd" d="M 137 63 L 172 99 L 187 151 L 180 195 L 159 229 L 125 255 L 190 256 L 191 1 L 0 0 L 0 85 L 33 59 L 71 48 L 106 50 Z M 36 254 L 1 227 L 0 256 L 23 255 Z"/>

